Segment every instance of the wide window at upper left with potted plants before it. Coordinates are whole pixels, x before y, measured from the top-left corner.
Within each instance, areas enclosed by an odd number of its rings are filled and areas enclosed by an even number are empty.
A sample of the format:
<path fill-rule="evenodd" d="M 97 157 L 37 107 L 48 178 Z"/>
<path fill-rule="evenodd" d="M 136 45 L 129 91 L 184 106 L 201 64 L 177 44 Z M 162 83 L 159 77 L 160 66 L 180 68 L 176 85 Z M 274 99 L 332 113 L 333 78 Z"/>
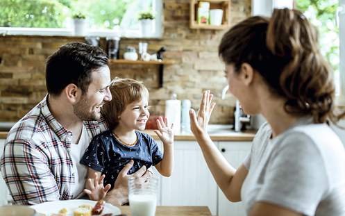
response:
<path fill-rule="evenodd" d="M 155 15 L 153 38 L 162 35 L 162 0 L 1 0 L 0 33 L 73 35 L 72 16 L 87 18 L 87 35 L 107 36 L 120 29 L 128 38 L 140 37 L 139 13 Z"/>

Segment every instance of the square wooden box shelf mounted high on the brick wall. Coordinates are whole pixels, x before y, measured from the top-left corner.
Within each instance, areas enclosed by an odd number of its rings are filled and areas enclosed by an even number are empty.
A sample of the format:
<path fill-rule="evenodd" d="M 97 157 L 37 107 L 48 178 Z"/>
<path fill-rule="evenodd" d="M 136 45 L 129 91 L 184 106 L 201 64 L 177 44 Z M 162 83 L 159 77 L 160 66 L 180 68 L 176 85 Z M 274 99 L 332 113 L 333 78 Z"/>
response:
<path fill-rule="evenodd" d="M 223 19 L 220 26 L 198 23 L 198 6 L 199 1 L 210 2 L 211 9 L 222 9 Z M 230 0 L 190 0 L 190 28 L 192 29 L 210 29 L 224 30 L 230 25 Z"/>

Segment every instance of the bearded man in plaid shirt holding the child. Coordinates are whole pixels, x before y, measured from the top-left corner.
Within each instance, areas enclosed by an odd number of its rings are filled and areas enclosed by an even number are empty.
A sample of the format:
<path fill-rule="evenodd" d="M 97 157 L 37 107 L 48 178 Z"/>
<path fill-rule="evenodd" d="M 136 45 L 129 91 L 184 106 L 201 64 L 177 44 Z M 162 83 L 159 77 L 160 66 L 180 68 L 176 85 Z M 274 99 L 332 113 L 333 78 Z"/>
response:
<path fill-rule="evenodd" d="M 49 56 L 47 96 L 8 133 L 1 172 L 15 204 L 76 199 L 85 188 L 87 168 L 79 163 L 94 137 L 106 130 L 103 103 L 110 101 L 108 57 L 80 42 L 66 44 Z M 128 201 L 127 175 L 121 171 L 106 201 Z M 146 167 L 136 177 L 148 178 Z"/>

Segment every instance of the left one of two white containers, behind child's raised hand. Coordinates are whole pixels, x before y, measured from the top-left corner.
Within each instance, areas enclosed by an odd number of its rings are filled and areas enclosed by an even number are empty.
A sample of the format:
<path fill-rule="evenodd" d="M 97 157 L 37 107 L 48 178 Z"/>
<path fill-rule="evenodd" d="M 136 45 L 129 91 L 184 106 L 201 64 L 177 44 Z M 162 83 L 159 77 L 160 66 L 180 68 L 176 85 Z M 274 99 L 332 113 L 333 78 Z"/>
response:
<path fill-rule="evenodd" d="M 180 119 L 181 119 L 181 101 L 179 101 L 176 94 L 171 95 L 171 99 L 165 101 L 165 117 L 169 123 L 174 124 L 174 133 L 180 133 Z"/>

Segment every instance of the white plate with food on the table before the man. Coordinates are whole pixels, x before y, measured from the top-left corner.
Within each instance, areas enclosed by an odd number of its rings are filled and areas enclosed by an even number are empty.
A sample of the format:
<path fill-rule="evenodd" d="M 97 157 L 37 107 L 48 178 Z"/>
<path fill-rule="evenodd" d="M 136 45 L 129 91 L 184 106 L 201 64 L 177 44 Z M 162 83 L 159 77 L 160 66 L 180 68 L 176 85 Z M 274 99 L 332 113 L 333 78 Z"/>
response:
<path fill-rule="evenodd" d="M 87 199 L 48 201 L 45 203 L 40 203 L 40 204 L 31 206 L 31 208 L 34 208 L 37 211 L 37 213 L 43 213 L 45 215 L 51 215 L 53 213 L 57 214 L 62 208 L 67 208 L 68 210 L 67 215 L 69 216 L 69 215 L 73 215 L 74 210 L 76 210 L 78 206 L 81 206 L 83 204 L 89 204 L 90 206 L 94 206 L 96 204 L 96 201 L 91 201 Z M 108 214 L 108 213 L 119 215 L 121 214 L 121 210 L 117 208 L 116 206 L 112 206 L 112 204 L 110 203 L 106 203 L 101 215 Z"/>

